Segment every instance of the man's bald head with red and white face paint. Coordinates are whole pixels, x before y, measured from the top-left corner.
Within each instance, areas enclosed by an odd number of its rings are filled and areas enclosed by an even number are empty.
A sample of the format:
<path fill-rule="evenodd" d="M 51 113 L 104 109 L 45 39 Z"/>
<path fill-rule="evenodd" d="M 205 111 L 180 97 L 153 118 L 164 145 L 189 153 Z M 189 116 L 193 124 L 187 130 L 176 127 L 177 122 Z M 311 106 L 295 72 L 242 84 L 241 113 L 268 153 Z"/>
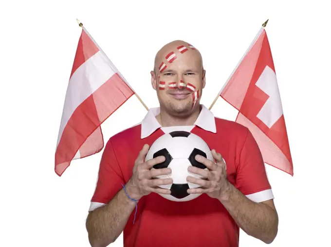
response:
<path fill-rule="evenodd" d="M 182 40 L 161 48 L 151 73 L 153 88 L 162 109 L 171 115 L 187 115 L 199 107 L 205 70 L 198 49 Z"/>

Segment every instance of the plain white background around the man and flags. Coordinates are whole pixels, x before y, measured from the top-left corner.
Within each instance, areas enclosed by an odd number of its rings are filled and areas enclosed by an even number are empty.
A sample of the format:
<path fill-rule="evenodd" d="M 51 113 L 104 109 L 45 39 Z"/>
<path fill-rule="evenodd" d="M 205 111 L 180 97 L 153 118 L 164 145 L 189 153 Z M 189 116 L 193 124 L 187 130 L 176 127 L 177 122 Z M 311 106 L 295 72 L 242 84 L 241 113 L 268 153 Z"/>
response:
<path fill-rule="evenodd" d="M 308 2 L 308 1 L 307 1 Z M 85 219 L 101 153 L 58 177 L 54 156 L 80 19 L 148 107 L 155 52 L 183 39 L 207 71 L 202 103 L 220 91 L 261 24 L 272 49 L 294 177 L 267 165 L 279 214 L 272 247 L 328 246 L 330 19 L 327 1 L 3 1 L 0 4 L 0 246 L 88 247 Z M 235 120 L 221 98 L 214 115 Z M 102 125 L 105 139 L 147 111 L 132 97 Z M 106 140 L 107 141 L 107 140 Z M 187 230 L 189 233 L 189 229 Z M 121 247 L 122 235 L 111 246 Z M 265 246 L 240 233 L 240 247 Z"/>

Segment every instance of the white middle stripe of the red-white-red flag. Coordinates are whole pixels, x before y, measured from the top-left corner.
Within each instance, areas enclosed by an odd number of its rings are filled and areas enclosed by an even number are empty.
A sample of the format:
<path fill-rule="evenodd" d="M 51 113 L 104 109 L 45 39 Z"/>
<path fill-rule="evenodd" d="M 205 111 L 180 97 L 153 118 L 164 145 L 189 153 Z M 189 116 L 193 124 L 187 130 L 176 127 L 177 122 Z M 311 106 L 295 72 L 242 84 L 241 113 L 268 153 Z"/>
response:
<path fill-rule="evenodd" d="M 77 68 L 69 81 L 56 147 L 76 108 L 115 73 L 116 71 L 109 66 L 108 58 L 101 51 L 95 53 Z M 77 89 L 81 89 L 81 91 L 77 92 Z"/>

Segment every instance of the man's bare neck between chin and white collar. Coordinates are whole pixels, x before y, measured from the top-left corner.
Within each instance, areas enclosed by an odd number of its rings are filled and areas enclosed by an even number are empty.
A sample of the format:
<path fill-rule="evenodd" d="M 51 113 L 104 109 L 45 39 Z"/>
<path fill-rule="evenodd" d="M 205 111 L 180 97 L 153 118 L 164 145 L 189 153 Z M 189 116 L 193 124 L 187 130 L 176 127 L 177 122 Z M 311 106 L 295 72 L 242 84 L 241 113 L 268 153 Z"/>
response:
<path fill-rule="evenodd" d="M 191 126 L 194 125 L 201 112 L 201 105 L 189 115 L 183 117 L 170 115 L 166 111 L 162 110 L 162 108 L 160 110 L 160 114 L 156 116 L 156 120 L 161 124 L 162 127 Z"/>

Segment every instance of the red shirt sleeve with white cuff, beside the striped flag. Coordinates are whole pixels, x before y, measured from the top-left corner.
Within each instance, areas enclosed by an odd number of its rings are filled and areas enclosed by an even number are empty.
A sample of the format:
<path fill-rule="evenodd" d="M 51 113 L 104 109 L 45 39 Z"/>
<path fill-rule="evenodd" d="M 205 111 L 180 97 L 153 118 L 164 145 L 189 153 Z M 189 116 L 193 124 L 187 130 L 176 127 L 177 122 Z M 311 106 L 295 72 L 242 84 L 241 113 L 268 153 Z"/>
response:
<path fill-rule="evenodd" d="M 124 184 L 122 171 L 110 139 L 101 157 L 98 179 L 89 211 L 109 203 L 122 188 L 122 183 Z"/>

